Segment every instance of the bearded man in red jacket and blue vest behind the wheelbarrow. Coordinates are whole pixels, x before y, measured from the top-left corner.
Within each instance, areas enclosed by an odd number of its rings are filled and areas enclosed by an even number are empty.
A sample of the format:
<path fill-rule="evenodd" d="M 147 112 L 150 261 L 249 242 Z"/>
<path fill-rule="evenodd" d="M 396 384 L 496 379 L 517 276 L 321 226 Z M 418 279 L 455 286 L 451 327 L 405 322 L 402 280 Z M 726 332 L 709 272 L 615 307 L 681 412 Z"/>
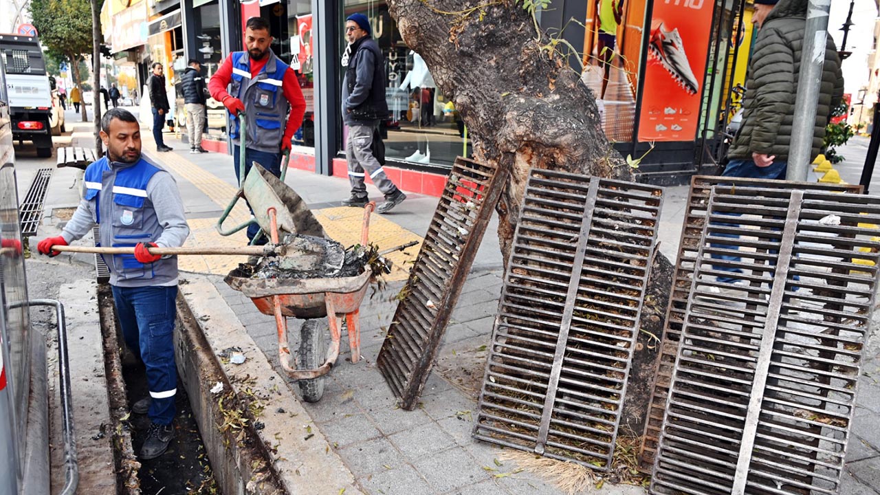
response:
<path fill-rule="evenodd" d="M 245 30 L 247 51 L 232 52 L 208 83 L 214 100 L 229 111 L 232 156 L 238 177 L 240 146 L 245 146 L 245 174 L 255 161 L 276 177 L 281 176 L 281 153 L 290 151 L 293 134 L 303 124 L 305 99 L 297 74 L 272 53 L 269 23 L 249 18 Z M 228 88 L 228 89 L 227 89 Z M 242 137 L 238 119 L 245 119 L 247 136 Z M 238 177 L 243 181 L 244 177 Z M 253 240 L 258 225 L 247 229 Z M 256 244 L 265 244 L 266 238 Z"/>

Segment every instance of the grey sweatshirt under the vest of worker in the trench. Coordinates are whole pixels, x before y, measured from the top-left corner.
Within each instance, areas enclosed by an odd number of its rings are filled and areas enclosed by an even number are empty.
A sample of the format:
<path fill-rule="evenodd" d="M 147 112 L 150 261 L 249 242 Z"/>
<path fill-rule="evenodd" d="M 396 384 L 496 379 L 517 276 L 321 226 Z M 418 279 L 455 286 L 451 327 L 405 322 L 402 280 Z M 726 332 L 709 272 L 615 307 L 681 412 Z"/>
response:
<path fill-rule="evenodd" d="M 111 166 L 117 165 L 111 162 Z M 189 225 L 187 225 L 187 218 L 184 214 L 183 202 L 180 200 L 180 191 L 172 174 L 165 170 L 160 170 L 147 182 L 146 190 L 149 203 L 144 204 L 144 208 L 150 207 L 151 204 L 152 210 L 156 212 L 158 223 L 162 227 L 161 235 L 159 235 L 157 240 L 153 240 L 153 242 L 156 242 L 158 247 L 183 246 L 184 241 L 187 240 L 189 235 Z M 98 218 L 97 208 L 98 204 L 94 199 L 83 199 L 80 201 L 77 211 L 73 213 L 73 217 L 64 226 L 62 232 L 62 237 L 68 244 L 74 240 L 81 239 L 92 230 L 94 225 L 97 225 L 95 221 Z M 104 217 L 106 218 L 107 215 L 104 215 Z M 109 243 L 103 242 L 102 245 L 109 245 Z M 106 261 L 108 261 L 108 265 L 112 265 L 109 260 Z M 172 280 L 163 280 L 161 282 L 150 279 L 143 281 L 138 281 L 137 279 L 121 280 L 111 268 L 110 284 L 126 287 L 143 285 L 172 286 L 177 284 L 177 278 L 175 276 Z"/>

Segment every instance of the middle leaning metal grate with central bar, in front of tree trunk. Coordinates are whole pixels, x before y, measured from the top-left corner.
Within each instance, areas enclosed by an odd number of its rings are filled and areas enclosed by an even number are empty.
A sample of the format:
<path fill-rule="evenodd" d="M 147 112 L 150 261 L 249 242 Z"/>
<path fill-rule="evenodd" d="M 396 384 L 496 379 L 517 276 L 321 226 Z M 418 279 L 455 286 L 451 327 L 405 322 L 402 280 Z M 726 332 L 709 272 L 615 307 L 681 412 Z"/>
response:
<path fill-rule="evenodd" d="M 473 436 L 611 469 L 661 189 L 532 170 Z"/>

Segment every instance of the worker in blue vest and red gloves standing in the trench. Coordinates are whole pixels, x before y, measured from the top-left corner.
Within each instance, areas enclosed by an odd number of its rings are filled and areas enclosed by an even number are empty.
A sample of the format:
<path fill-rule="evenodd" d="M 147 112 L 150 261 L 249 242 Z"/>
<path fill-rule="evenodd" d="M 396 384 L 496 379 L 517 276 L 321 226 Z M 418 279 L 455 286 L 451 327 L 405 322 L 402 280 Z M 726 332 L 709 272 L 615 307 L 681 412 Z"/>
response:
<path fill-rule="evenodd" d="M 83 200 L 57 237 L 40 240 L 40 254 L 54 256 L 99 225 L 99 246 L 135 247 L 134 255 L 105 257 L 116 314 L 128 348 L 143 359 L 150 396 L 132 410 L 150 417 L 142 459 L 165 452 L 173 438 L 177 368 L 172 333 L 177 314 L 176 256 L 150 247 L 180 247 L 189 235 L 180 191 L 172 174 L 141 154 L 141 130 L 134 115 L 111 108 L 101 118 L 104 158 L 85 169 Z"/>

